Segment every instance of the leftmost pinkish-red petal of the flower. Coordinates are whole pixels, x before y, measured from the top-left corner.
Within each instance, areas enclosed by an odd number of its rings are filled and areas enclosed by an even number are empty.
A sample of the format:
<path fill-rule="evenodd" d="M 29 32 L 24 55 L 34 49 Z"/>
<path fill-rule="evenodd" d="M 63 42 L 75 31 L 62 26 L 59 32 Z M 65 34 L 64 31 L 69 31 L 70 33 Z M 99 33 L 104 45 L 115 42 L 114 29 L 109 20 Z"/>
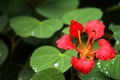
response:
<path fill-rule="evenodd" d="M 63 35 L 60 39 L 56 41 L 56 44 L 59 48 L 62 48 L 65 50 L 74 49 L 74 45 L 72 44 L 72 41 L 69 35 Z"/>

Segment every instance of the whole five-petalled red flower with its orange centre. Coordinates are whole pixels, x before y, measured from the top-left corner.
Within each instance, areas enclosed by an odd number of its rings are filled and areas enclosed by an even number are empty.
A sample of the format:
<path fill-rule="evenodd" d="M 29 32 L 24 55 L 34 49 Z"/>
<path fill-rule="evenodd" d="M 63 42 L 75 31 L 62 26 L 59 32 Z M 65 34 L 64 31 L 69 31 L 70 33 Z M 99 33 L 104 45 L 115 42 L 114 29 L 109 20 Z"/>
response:
<path fill-rule="evenodd" d="M 99 60 L 110 60 L 115 57 L 115 50 L 110 43 L 101 38 L 104 35 L 104 24 L 99 20 L 92 20 L 83 25 L 77 21 L 72 20 L 70 24 L 69 34 L 63 35 L 56 41 L 59 48 L 65 50 L 75 49 L 78 52 L 78 57 L 72 56 L 71 64 L 81 74 L 89 73 L 94 67 L 94 57 Z M 81 35 L 86 32 L 88 39 L 83 45 Z M 77 43 L 72 43 L 72 37 L 77 39 Z M 94 42 L 98 41 L 99 48 L 93 50 Z M 79 47 L 78 47 L 79 44 Z"/>

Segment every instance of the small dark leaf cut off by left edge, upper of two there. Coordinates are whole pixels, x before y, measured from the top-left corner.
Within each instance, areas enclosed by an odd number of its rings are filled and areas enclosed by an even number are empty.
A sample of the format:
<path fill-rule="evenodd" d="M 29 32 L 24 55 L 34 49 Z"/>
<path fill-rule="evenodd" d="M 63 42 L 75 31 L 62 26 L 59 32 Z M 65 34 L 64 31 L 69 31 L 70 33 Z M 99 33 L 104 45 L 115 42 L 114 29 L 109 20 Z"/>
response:
<path fill-rule="evenodd" d="M 7 15 L 3 14 L 0 16 L 0 32 L 3 32 L 8 22 Z"/>

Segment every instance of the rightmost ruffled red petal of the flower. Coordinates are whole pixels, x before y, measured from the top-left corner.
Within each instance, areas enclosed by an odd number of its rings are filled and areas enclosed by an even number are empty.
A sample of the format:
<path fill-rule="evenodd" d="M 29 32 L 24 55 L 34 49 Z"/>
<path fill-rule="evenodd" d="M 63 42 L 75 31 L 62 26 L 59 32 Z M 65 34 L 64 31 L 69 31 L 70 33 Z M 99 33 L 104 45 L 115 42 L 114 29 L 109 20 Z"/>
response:
<path fill-rule="evenodd" d="M 98 41 L 100 48 L 96 51 L 95 56 L 100 60 L 109 60 L 115 57 L 115 50 L 112 48 L 110 43 L 105 39 L 100 39 Z"/>

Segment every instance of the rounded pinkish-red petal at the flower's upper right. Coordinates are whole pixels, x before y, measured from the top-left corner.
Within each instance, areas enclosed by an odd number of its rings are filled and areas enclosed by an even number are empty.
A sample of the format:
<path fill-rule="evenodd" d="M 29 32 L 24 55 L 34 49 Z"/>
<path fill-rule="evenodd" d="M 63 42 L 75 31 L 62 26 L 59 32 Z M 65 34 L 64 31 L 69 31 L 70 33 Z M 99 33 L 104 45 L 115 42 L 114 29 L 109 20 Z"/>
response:
<path fill-rule="evenodd" d="M 85 25 L 84 29 L 90 38 L 98 39 L 103 36 L 104 28 L 105 26 L 102 22 L 100 22 L 99 20 L 93 20 L 93 21 L 88 22 Z M 95 32 L 95 36 L 90 36 L 92 32 Z"/>

